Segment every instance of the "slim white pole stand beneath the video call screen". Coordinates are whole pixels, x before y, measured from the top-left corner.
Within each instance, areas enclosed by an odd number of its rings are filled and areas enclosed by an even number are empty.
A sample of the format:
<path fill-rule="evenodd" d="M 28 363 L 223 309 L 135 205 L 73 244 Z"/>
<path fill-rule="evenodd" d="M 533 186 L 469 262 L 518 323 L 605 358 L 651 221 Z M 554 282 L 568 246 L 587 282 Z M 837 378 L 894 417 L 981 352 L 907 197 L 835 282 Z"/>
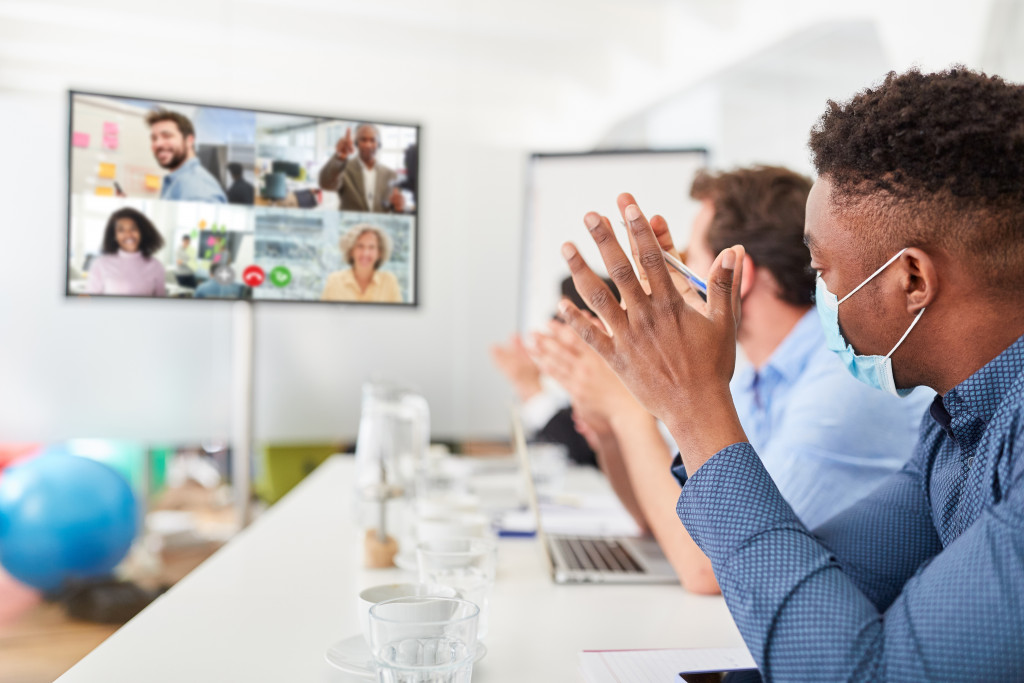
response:
<path fill-rule="evenodd" d="M 253 337 L 252 301 L 233 304 L 231 316 L 231 486 L 239 528 L 252 521 Z"/>

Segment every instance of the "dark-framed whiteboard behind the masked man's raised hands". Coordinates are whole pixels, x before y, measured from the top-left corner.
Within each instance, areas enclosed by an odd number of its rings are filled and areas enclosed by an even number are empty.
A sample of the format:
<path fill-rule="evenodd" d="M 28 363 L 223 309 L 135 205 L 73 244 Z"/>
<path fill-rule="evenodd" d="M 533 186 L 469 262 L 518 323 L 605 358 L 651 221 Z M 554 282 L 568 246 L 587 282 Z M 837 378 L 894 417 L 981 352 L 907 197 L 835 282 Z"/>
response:
<path fill-rule="evenodd" d="M 563 242 L 575 244 L 591 268 L 605 275 L 583 217 L 597 211 L 618 229 L 615 198 L 621 193 L 632 193 L 645 216 L 664 216 L 676 246 L 685 248 L 699 209 L 690 199 L 690 183 L 707 163 L 703 150 L 534 155 L 526 186 L 520 332 L 540 329 L 557 308 L 561 282 L 569 274 L 560 251 Z M 629 253 L 623 230 L 617 236 Z"/>

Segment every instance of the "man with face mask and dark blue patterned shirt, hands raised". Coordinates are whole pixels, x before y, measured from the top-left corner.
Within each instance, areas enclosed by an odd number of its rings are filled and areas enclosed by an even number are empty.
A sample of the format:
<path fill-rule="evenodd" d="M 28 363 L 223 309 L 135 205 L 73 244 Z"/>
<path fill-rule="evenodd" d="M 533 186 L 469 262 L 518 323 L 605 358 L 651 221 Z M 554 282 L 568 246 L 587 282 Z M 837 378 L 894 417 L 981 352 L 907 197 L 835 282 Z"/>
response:
<path fill-rule="evenodd" d="M 563 247 L 611 335 L 563 315 L 677 435 L 679 517 L 766 679 L 1024 678 L 1021 112 L 1022 86 L 911 70 L 829 101 L 811 132 L 805 236 L 827 343 L 871 386 L 939 393 L 907 465 L 813 532 L 728 392 L 742 249 L 719 255 L 707 306 L 684 302 L 631 204 L 647 296 L 607 219 L 587 214 L 623 311 Z"/>

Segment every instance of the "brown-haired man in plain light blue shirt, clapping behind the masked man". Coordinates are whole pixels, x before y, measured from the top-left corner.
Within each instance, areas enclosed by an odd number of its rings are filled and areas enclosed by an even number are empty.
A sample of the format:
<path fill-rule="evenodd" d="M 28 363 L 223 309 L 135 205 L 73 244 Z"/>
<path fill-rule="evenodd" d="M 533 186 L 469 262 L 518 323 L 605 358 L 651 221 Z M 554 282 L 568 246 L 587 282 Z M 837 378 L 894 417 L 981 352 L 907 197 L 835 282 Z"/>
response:
<path fill-rule="evenodd" d="M 746 249 L 737 339 L 749 364 L 729 390 L 765 469 L 804 523 L 816 525 L 903 465 L 931 395 L 922 390 L 901 400 L 871 391 L 825 346 L 803 242 L 810 188 L 807 178 L 777 167 L 698 173 L 691 196 L 701 208 L 686 261 L 707 273 L 721 245 Z M 654 224 L 671 249 L 664 221 Z M 716 592 L 711 562 L 679 532 L 679 486 L 669 473 L 674 453 L 655 419 L 570 329 L 552 333 L 537 337 L 541 367 L 572 396 L 620 498 L 653 532 L 687 589 Z"/>

